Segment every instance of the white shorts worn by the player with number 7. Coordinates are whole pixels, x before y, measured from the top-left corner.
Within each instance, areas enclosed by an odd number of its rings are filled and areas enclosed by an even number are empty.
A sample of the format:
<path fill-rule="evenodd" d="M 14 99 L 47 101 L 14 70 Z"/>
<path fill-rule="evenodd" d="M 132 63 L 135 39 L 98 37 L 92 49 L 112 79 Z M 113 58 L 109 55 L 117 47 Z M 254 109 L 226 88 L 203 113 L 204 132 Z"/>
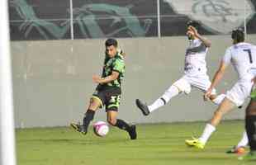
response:
<path fill-rule="evenodd" d="M 230 91 L 226 92 L 226 97 L 235 103 L 236 106 L 242 106 L 247 97 L 250 96 L 254 83 L 251 81 L 236 82 Z"/>

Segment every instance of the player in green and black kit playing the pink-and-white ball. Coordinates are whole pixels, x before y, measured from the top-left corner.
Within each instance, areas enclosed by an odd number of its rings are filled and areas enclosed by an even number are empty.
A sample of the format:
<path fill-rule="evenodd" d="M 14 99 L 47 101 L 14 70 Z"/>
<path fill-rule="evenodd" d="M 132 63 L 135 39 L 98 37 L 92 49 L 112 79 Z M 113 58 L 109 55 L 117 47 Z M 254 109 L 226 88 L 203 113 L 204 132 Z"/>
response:
<path fill-rule="evenodd" d="M 92 94 L 88 110 L 83 117 L 83 125 L 71 124 L 74 130 L 87 134 L 88 125 L 93 120 L 95 111 L 105 106 L 107 121 L 110 125 L 126 130 L 130 139 L 136 139 L 135 125 L 128 125 L 126 121 L 117 119 L 118 107 L 121 99 L 121 81 L 124 79 L 125 60 L 122 51 L 117 49 L 117 41 L 108 39 L 105 42 L 106 52 L 102 76 L 93 75 L 93 82 L 98 83 Z"/>

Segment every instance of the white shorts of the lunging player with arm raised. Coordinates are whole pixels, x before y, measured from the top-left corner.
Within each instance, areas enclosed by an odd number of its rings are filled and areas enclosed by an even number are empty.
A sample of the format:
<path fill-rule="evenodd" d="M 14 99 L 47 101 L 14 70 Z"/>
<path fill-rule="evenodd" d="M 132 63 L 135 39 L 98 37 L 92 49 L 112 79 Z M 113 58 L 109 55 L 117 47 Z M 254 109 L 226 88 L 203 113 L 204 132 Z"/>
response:
<path fill-rule="evenodd" d="M 192 87 L 197 87 L 202 92 L 206 92 L 208 88 L 211 86 L 211 81 L 208 75 L 200 75 L 200 76 L 188 76 L 184 75 L 182 78 L 178 79 L 178 81 L 173 83 L 173 86 L 178 87 L 181 92 L 186 94 L 190 93 Z M 211 94 L 216 94 L 216 89 L 213 89 Z"/>

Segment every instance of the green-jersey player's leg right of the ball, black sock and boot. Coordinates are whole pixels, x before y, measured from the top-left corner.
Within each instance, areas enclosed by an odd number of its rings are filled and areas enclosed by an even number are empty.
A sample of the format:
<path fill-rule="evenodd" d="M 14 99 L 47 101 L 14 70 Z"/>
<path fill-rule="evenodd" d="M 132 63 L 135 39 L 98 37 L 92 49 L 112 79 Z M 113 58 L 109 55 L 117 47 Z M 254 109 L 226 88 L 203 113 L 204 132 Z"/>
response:
<path fill-rule="evenodd" d="M 107 111 L 107 122 L 121 130 L 126 130 L 130 135 L 130 139 L 137 138 L 135 125 L 129 125 L 125 120 L 117 119 L 117 111 Z"/>

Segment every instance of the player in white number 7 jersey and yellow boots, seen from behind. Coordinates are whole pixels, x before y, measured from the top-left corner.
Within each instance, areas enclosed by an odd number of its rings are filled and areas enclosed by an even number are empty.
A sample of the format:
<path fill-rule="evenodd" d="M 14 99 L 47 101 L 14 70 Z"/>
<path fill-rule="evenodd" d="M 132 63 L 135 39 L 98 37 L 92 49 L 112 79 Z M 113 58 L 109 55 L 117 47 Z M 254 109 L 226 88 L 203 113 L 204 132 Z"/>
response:
<path fill-rule="evenodd" d="M 226 92 L 225 99 L 215 111 L 211 122 L 206 125 L 201 137 L 199 139 L 193 138 L 185 141 L 189 146 L 204 148 L 207 140 L 216 130 L 216 125 L 220 123 L 222 116 L 230 112 L 235 106 L 241 106 L 244 100 L 250 95 L 254 84 L 252 79 L 256 75 L 256 46 L 244 42 L 244 31 L 241 29 L 232 31 L 231 37 L 233 39 L 233 45 L 225 51 L 225 55 L 220 62 L 220 68 L 217 70 L 205 97 L 211 97 L 214 87 L 220 82 L 225 69 L 230 63 L 238 73 L 239 79 L 235 83 L 235 86 Z"/>

